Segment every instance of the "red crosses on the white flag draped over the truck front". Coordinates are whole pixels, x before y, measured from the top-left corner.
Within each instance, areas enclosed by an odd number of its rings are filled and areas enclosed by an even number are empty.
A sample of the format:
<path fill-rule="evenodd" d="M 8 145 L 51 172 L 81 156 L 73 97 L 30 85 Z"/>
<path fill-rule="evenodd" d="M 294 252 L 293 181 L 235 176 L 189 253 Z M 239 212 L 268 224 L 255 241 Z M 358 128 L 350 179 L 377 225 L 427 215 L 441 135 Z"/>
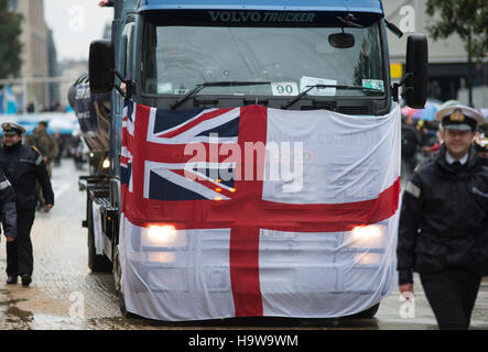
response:
<path fill-rule="evenodd" d="M 193 158 L 185 155 L 185 144 L 160 144 L 149 141 L 152 133 L 150 127 L 151 109 L 141 105 L 135 107 L 133 135 L 123 131 L 122 146 L 132 156 L 132 191 L 122 182 L 122 207 L 126 217 L 134 224 L 148 227 L 148 223 L 171 223 L 176 230 L 182 229 L 231 229 L 230 230 L 230 279 L 236 317 L 262 316 L 262 297 L 259 282 L 259 231 L 260 229 L 292 231 L 292 232 L 337 232 L 350 231 L 357 226 L 365 226 L 386 220 L 394 215 L 399 205 L 400 178 L 378 198 L 336 205 L 290 205 L 272 202 L 262 199 L 264 154 L 256 153 L 252 164 L 247 164 L 243 157 L 236 165 L 236 174 L 245 178 L 246 168 L 252 167 L 251 180 L 235 180 L 231 193 L 225 193 L 228 200 L 196 199 L 196 200 L 159 200 L 144 198 L 144 165 L 147 161 L 169 164 L 184 164 Z M 216 109 L 202 114 L 199 118 L 183 123 L 161 138 L 174 138 L 188 131 L 198 123 L 216 119 L 230 110 Z M 268 109 L 261 106 L 240 108 L 238 121 L 237 144 L 245 151 L 245 143 L 265 144 Z M 130 112 L 129 112 L 130 116 Z M 129 117 L 130 119 L 130 117 Z M 124 117 L 127 121 L 127 117 Z M 197 142 L 200 144 L 200 142 Z M 189 143 L 191 144 L 191 143 Z M 195 143 L 196 144 L 196 143 Z M 209 151 L 215 145 L 203 143 Z M 200 144 L 202 145 L 202 144 Z M 220 146 L 220 145 L 218 145 Z M 121 157 L 121 164 L 129 161 Z M 229 156 L 219 156 L 218 162 L 228 161 Z M 202 161 L 205 162 L 205 161 Z M 208 160 L 207 160 L 208 162 Z M 174 170 L 183 175 L 183 170 Z M 198 183 L 214 187 L 206 180 Z M 165 190 L 171 193 L 171 189 Z"/>

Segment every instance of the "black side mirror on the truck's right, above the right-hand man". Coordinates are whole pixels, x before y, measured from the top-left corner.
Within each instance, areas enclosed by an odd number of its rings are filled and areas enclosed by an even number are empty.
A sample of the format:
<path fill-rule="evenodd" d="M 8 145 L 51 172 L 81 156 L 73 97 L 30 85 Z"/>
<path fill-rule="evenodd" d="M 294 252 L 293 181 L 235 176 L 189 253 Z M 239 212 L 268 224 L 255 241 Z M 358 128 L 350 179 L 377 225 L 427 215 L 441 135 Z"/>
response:
<path fill-rule="evenodd" d="M 423 109 L 427 99 L 427 38 L 412 34 L 406 42 L 405 88 L 403 96 L 410 108 Z"/>

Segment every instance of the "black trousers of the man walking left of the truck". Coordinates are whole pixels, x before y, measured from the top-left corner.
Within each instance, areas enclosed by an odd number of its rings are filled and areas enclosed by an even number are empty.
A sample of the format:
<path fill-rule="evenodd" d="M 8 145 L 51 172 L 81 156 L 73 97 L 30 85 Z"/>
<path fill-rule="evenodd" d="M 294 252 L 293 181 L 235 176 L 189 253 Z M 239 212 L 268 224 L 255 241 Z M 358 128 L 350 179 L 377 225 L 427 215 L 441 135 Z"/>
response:
<path fill-rule="evenodd" d="M 17 239 L 7 242 L 7 275 L 32 275 L 34 257 L 32 254 L 31 229 L 34 223 L 35 208 L 17 212 Z"/>

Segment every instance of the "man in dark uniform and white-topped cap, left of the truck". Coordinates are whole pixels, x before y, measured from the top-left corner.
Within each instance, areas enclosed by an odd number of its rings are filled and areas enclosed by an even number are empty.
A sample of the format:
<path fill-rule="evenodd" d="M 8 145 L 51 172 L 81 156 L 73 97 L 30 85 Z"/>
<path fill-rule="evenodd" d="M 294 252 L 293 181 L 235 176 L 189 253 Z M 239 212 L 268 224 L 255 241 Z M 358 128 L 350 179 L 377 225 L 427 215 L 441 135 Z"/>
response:
<path fill-rule="evenodd" d="M 33 147 L 22 145 L 25 129 L 12 122 L 2 123 L 2 129 L 0 167 L 12 184 L 17 197 L 17 239 L 7 243 L 7 284 L 15 284 L 20 275 L 22 285 L 29 286 L 34 266 L 31 228 L 37 204 L 35 182 L 41 184 L 46 210 L 53 207 L 54 195 L 43 157 Z"/>

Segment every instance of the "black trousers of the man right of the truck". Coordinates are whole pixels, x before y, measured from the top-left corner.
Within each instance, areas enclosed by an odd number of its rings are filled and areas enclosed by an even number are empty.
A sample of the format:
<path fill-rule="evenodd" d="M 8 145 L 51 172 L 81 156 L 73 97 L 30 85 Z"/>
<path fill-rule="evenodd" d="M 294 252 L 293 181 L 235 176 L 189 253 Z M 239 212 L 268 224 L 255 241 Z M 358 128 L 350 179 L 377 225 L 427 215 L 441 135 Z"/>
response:
<path fill-rule="evenodd" d="M 420 277 L 440 329 L 468 329 L 481 277 L 462 270 L 421 274 Z"/>

